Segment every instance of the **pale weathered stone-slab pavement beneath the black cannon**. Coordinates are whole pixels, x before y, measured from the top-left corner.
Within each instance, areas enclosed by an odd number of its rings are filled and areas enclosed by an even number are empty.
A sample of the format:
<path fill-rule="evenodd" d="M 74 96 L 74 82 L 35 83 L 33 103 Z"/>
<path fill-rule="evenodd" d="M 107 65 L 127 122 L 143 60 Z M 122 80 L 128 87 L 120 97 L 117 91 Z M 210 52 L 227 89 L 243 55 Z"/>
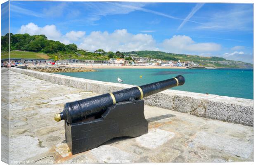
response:
<path fill-rule="evenodd" d="M 253 161 L 253 127 L 145 105 L 149 133 L 120 137 L 72 155 L 64 121 L 66 102 L 97 95 L 10 71 L 10 163 L 168 163 Z"/>

